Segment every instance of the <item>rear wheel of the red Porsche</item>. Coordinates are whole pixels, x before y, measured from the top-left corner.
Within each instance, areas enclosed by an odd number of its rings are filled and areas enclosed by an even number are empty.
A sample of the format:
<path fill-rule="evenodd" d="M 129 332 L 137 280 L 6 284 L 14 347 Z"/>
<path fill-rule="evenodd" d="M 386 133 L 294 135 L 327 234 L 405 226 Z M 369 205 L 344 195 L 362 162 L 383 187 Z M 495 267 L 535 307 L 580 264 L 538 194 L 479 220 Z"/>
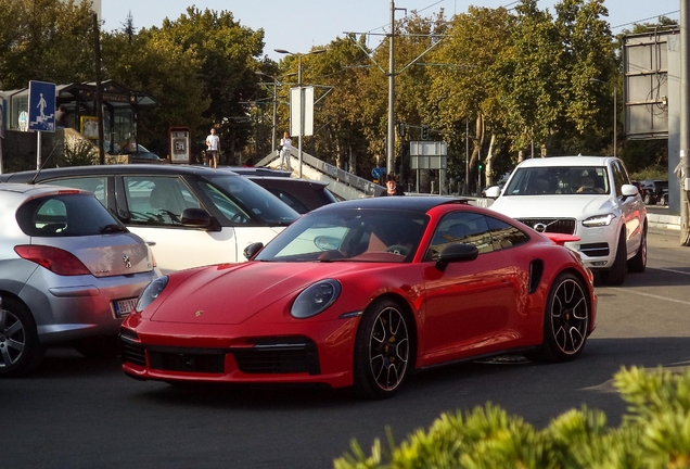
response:
<path fill-rule="evenodd" d="M 539 357 L 567 362 L 580 354 L 589 331 L 589 300 L 583 280 L 559 275 L 551 286 L 544 313 L 544 344 Z"/>

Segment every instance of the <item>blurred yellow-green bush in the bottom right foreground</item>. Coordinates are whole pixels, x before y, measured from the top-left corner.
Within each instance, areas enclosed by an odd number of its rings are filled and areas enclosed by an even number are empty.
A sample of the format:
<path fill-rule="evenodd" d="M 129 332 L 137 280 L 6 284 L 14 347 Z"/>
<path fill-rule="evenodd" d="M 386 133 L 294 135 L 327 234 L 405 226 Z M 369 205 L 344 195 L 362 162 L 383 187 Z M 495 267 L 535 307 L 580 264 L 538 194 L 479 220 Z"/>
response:
<path fill-rule="evenodd" d="M 488 403 L 442 415 L 389 449 L 374 441 L 367 456 L 354 441 L 335 469 L 372 468 L 689 468 L 690 370 L 622 369 L 614 385 L 629 404 L 619 428 L 602 411 L 570 410 L 544 430 Z"/>

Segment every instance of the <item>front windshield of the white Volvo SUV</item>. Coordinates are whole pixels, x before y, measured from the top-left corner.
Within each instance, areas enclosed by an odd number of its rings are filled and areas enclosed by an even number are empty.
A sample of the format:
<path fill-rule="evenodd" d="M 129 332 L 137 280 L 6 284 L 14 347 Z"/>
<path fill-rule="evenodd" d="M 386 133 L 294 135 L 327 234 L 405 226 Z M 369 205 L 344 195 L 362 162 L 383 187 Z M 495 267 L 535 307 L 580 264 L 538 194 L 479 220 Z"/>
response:
<path fill-rule="evenodd" d="M 603 166 L 524 167 L 503 195 L 608 194 L 610 189 Z"/>

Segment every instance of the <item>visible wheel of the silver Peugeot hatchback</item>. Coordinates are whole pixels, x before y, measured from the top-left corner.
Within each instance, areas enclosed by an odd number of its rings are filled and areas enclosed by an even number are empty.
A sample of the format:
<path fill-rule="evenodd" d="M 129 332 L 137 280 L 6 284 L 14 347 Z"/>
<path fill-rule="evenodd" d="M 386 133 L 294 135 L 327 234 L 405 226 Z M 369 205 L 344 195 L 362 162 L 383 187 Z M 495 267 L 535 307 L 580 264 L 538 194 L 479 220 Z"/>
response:
<path fill-rule="evenodd" d="M 34 370 L 46 348 L 38 340 L 36 322 L 20 301 L 3 297 L 0 309 L 0 377 L 17 377 Z"/>

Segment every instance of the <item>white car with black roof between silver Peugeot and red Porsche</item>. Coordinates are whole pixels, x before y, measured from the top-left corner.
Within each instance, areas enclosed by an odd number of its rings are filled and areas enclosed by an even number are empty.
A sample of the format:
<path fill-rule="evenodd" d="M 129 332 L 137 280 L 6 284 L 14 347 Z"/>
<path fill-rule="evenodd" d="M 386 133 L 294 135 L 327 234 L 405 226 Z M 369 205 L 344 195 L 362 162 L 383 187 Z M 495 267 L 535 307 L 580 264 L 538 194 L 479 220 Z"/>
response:
<path fill-rule="evenodd" d="M 152 246 L 165 272 L 243 262 L 253 242 L 268 242 L 299 214 L 250 179 L 203 166 L 102 165 L 0 176 L 93 192 Z"/>

